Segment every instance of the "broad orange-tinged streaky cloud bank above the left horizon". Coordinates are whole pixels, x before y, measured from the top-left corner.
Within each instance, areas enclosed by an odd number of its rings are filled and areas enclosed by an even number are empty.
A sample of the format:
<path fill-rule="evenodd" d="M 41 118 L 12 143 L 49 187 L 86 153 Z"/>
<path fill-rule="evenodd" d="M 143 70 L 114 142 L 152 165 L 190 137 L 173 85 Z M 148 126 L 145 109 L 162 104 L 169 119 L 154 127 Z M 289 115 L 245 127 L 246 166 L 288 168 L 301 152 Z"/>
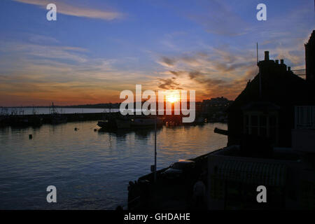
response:
<path fill-rule="evenodd" d="M 57 40 L 50 45 L 1 41 L 0 105 L 118 102 L 120 91 L 150 80 L 144 71 L 120 69 L 130 58 L 90 54 Z"/>

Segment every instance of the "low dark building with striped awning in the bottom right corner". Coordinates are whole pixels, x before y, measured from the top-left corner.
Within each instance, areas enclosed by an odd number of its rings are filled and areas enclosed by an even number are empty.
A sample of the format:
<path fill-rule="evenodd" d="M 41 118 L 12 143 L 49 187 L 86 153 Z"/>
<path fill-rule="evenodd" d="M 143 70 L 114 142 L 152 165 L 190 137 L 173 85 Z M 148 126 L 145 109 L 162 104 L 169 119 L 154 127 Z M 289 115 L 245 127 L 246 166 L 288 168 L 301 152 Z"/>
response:
<path fill-rule="evenodd" d="M 244 156 L 237 145 L 211 153 L 209 209 L 315 209 L 314 139 L 315 106 L 295 106 L 292 148 L 273 147 L 271 158 Z M 267 203 L 256 200 L 258 186 L 267 189 Z"/>

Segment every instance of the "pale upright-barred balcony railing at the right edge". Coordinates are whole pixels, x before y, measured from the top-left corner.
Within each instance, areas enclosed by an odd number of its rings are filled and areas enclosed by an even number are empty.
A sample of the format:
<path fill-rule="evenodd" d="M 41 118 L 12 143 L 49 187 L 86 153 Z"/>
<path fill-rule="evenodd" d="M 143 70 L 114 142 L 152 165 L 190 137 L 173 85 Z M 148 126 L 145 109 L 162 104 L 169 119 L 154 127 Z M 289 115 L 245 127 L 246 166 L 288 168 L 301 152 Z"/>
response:
<path fill-rule="evenodd" d="M 295 106 L 295 129 L 315 129 L 315 106 Z"/>

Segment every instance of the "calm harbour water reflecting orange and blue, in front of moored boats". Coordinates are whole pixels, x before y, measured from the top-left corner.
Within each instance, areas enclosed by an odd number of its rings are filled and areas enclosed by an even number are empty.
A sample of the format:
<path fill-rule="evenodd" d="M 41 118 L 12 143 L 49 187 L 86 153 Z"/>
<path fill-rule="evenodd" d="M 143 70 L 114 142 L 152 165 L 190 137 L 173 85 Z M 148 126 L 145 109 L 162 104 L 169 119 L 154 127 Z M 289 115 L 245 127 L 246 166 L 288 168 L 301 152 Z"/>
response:
<path fill-rule="evenodd" d="M 0 129 L 0 209 L 126 207 L 128 182 L 154 164 L 154 130 L 94 132 L 96 123 Z M 226 146 L 214 127 L 227 129 L 221 123 L 159 129 L 158 169 Z M 57 203 L 46 202 L 50 185 Z"/>

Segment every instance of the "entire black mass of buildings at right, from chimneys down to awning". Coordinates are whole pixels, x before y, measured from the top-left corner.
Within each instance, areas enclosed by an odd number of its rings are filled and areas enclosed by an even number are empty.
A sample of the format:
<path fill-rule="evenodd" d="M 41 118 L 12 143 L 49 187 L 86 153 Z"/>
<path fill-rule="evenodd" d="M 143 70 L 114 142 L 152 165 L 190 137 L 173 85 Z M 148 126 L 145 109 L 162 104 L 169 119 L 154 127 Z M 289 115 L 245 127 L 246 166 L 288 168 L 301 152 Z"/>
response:
<path fill-rule="evenodd" d="M 209 209 L 315 208 L 314 37 L 305 45 L 306 80 L 265 52 L 230 106 L 229 146 L 208 157 Z M 258 202 L 258 186 L 267 203 Z"/>

